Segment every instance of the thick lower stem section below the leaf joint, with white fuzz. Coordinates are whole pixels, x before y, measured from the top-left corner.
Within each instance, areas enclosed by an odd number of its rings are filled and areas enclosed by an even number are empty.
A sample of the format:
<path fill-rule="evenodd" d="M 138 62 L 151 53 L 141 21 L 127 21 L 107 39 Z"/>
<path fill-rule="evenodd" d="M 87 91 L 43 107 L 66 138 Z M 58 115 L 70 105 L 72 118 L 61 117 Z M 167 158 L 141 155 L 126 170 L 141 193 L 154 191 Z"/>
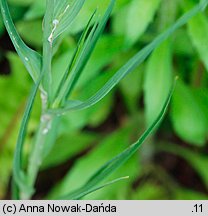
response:
<path fill-rule="evenodd" d="M 47 114 L 43 112 L 41 115 L 41 121 L 39 129 L 35 137 L 35 143 L 31 151 L 28 170 L 27 170 L 27 183 L 31 188 L 27 194 L 20 194 L 21 199 L 30 199 L 34 194 L 34 185 L 38 175 L 40 166 L 53 147 L 56 136 L 59 118 L 55 115 Z"/>

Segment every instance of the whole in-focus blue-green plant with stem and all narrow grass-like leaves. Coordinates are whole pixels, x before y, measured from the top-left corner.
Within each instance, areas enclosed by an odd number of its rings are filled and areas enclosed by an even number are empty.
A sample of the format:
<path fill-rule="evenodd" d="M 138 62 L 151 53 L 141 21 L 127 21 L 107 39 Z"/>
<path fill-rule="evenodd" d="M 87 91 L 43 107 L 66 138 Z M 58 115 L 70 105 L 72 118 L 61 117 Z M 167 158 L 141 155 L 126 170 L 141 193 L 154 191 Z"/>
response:
<path fill-rule="evenodd" d="M 70 100 L 71 93 L 76 88 L 83 69 L 105 29 L 115 2 L 116 0 L 109 0 L 109 5 L 102 17 L 98 16 L 98 10 L 95 10 L 89 18 L 67 70 L 63 73 L 61 81 L 57 83 L 58 87 L 52 89 L 52 82 L 54 81 L 52 60 L 55 46 L 62 39 L 66 30 L 70 28 L 70 24 L 79 14 L 85 0 L 46 0 L 46 11 L 43 19 L 43 51 L 41 54 L 30 49 L 23 42 L 13 24 L 7 1 L 0 0 L 5 27 L 19 57 L 34 81 L 16 145 L 13 165 L 13 198 L 30 199 L 34 194 L 37 174 L 43 160 L 55 143 L 56 129 L 59 126 L 62 115 L 68 112 L 73 115 L 73 112 L 87 109 L 102 100 L 125 76 L 145 61 L 151 52 L 170 37 L 175 30 L 186 24 L 197 13 L 203 11 L 208 4 L 208 0 L 203 0 L 192 10 L 184 14 L 165 32 L 156 37 L 142 50 L 138 51 L 90 98 L 85 101 L 80 101 L 79 99 Z M 80 189 L 61 198 L 80 199 L 109 184 L 126 179 L 126 177 L 121 177 L 112 182 L 101 184 L 105 178 L 122 166 L 138 150 L 154 128 L 160 123 L 171 99 L 173 88 L 169 92 L 158 117 L 134 144 L 104 164 Z M 23 165 L 24 140 L 34 100 L 38 92 L 40 92 L 42 99 L 42 114 L 40 116 L 39 128 L 34 137 L 34 145 L 29 154 L 28 165 L 25 167 Z"/>

